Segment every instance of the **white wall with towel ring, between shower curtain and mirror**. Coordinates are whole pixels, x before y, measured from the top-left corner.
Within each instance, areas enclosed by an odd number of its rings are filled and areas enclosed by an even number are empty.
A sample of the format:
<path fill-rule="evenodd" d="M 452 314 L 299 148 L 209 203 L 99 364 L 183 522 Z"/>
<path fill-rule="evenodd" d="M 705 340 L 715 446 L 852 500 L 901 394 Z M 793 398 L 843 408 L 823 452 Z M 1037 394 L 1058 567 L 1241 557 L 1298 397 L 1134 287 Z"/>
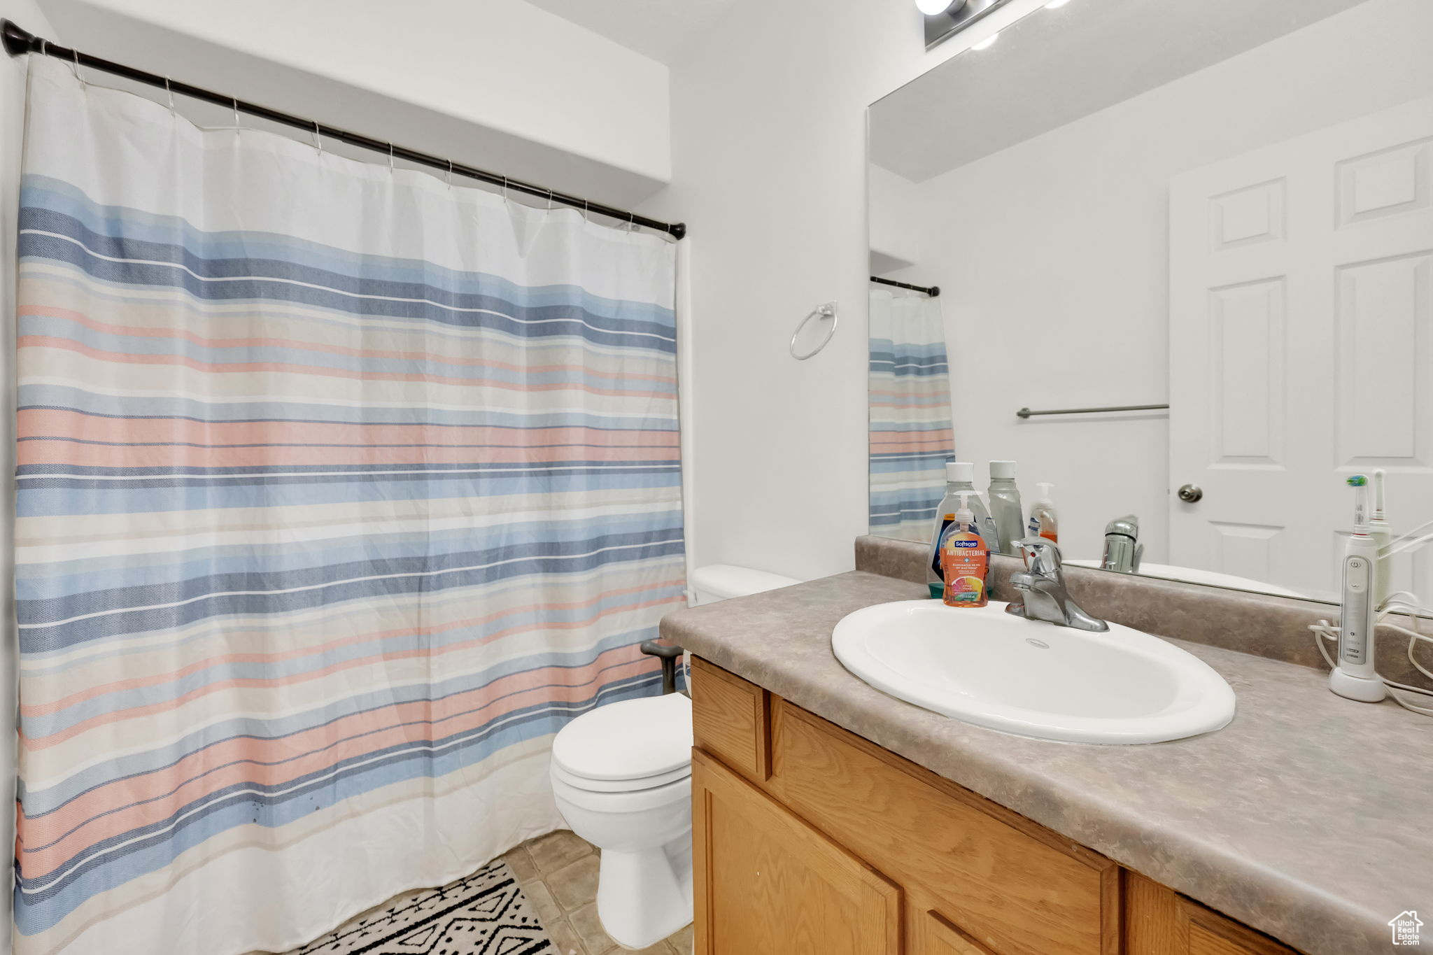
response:
<path fill-rule="evenodd" d="M 910 0 L 738 0 L 672 67 L 672 186 L 691 225 L 696 563 L 848 570 L 866 533 L 866 106 L 1042 6 L 930 53 Z M 996 19 L 999 17 L 999 19 Z M 810 361 L 797 322 L 835 299 Z"/>

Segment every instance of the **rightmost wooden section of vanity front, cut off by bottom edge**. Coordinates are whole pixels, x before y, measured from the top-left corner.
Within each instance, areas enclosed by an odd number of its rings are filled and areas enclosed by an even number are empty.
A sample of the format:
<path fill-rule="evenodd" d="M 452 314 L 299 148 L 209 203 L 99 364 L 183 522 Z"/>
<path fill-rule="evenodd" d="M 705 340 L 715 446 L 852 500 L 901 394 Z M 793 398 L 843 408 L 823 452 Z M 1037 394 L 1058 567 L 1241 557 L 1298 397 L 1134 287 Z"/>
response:
<path fill-rule="evenodd" d="M 1128 955 L 1295 955 L 1135 872 L 1125 878 L 1125 939 Z"/>

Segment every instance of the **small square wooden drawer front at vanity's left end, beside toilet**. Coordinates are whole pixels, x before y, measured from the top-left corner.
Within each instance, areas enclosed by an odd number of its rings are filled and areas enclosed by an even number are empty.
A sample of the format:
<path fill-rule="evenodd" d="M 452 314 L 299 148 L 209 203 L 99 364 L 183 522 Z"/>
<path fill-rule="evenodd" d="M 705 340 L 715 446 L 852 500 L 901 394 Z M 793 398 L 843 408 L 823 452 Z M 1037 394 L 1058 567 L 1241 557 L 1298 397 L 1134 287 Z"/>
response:
<path fill-rule="evenodd" d="M 771 776 L 770 694 L 755 683 L 692 657 L 692 736 L 748 779 Z"/>

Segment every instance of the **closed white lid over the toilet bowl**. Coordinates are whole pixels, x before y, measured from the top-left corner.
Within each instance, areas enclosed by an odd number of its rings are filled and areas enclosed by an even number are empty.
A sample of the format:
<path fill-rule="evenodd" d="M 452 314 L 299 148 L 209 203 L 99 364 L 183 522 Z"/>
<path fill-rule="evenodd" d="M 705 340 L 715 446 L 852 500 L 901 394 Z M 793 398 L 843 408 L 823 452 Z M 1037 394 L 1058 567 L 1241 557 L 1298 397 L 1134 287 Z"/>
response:
<path fill-rule="evenodd" d="M 552 742 L 552 762 L 580 779 L 646 779 L 691 760 L 692 702 L 681 693 L 599 706 Z"/>

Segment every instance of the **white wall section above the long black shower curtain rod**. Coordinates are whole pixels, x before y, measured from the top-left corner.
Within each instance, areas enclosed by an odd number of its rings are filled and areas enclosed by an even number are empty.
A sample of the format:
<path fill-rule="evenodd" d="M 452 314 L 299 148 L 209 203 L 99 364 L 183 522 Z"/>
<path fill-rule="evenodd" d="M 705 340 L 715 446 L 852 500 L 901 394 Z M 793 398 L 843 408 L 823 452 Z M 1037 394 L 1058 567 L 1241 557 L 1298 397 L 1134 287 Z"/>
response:
<path fill-rule="evenodd" d="M 671 178 L 666 66 L 523 0 L 39 3 L 87 53 L 543 186 Z"/>

